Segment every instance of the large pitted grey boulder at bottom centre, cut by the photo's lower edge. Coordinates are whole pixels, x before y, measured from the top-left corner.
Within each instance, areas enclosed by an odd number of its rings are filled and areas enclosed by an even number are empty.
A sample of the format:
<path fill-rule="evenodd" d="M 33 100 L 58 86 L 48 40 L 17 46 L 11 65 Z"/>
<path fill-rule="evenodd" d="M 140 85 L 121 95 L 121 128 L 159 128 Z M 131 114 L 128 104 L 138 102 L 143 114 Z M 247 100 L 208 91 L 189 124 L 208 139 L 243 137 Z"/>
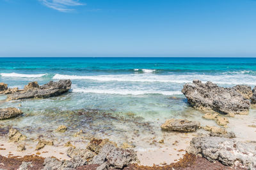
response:
<path fill-rule="evenodd" d="M 99 154 L 93 157 L 90 164 L 99 164 L 99 169 L 122 169 L 130 164 L 136 164 L 138 161 L 139 160 L 134 150 L 125 150 L 123 148 L 116 148 L 113 145 L 106 144 L 100 150 Z"/>

